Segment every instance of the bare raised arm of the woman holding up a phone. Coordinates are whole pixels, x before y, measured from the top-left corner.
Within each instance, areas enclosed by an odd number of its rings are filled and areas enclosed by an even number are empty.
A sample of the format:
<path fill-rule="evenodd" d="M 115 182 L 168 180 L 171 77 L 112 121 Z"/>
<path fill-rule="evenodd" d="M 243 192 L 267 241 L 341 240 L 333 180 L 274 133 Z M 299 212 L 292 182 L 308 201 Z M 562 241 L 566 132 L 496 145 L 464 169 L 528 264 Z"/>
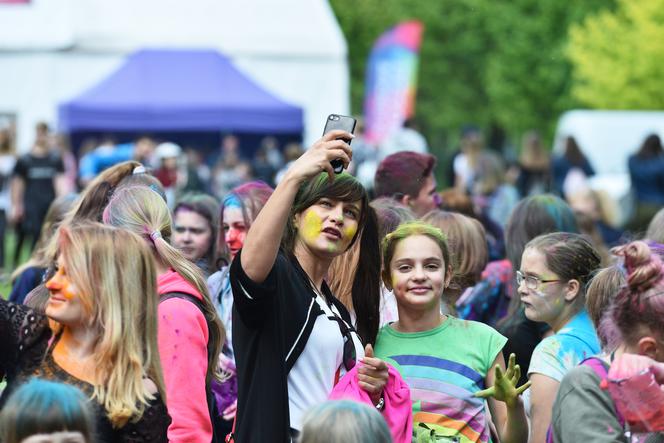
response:
<path fill-rule="evenodd" d="M 251 225 L 242 247 L 240 264 L 247 277 L 262 283 L 270 273 L 288 215 L 300 185 L 325 171 L 334 180 L 330 162 L 340 158 L 348 167 L 352 158 L 350 146 L 340 139 L 353 136 L 345 131 L 331 131 L 318 140 L 291 165 L 274 193 Z"/>

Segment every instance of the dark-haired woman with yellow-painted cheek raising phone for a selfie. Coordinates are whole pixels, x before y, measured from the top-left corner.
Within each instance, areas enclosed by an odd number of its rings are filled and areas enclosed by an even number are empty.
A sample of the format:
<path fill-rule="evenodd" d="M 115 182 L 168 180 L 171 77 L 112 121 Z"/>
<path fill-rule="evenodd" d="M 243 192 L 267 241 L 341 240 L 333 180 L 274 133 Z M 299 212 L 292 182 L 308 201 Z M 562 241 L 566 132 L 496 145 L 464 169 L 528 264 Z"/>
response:
<path fill-rule="evenodd" d="M 330 132 L 290 166 L 231 264 L 235 441 L 290 441 L 304 413 L 327 399 L 356 360 L 363 363 L 359 385 L 381 404 L 387 366 L 362 348 L 378 332 L 376 218 L 362 185 L 330 164 L 348 165 L 344 140 L 351 138 Z M 332 260 L 354 242 L 361 243 L 352 295 L 357 333 L 348 332 L 348 311 L 325 281 Z"/>

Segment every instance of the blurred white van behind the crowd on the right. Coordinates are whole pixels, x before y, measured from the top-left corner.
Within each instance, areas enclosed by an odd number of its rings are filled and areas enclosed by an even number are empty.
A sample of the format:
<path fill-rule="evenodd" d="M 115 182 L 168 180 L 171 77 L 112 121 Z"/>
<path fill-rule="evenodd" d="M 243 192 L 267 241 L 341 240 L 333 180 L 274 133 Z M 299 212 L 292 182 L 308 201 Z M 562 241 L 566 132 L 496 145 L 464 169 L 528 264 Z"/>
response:
<path fill-rule="evenodd" d="M 627 159 L 650 134 L 664 140 L 664 111 L 565 112 L 558 121 L 553 151 L 562 154 L 565 138 L 576 139 L 595 169 L 589 185 L 605 197 L 603 205 L 610 224 L 623 226 L 631 216 L 633 200 Z"/>

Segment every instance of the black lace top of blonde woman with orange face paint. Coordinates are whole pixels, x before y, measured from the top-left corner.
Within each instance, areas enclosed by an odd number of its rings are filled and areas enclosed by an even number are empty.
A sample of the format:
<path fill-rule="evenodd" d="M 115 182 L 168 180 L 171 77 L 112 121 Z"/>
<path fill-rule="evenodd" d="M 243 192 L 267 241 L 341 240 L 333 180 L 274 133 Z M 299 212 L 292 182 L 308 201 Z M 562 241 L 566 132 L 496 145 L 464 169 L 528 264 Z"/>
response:
<path fill-rule="evenodd" d="M 53 360 L 48 342 L 51 329 L 47 317 L 27 306 L 9 303 L 0 298 L 0 379 L 7 378 L 7 388 L 0 397 L 0 408 L 19 385 L 32 377 L 66 383 L 92 397 L 94 387 L 65 372 Z M 159 395 L 146 407 L 141 418 L 113 429 L 103 406 L 90 401 L 95 417 L 95 442 L 138 443 L 166 442 L 171 423 L 166 405 Z"/>

